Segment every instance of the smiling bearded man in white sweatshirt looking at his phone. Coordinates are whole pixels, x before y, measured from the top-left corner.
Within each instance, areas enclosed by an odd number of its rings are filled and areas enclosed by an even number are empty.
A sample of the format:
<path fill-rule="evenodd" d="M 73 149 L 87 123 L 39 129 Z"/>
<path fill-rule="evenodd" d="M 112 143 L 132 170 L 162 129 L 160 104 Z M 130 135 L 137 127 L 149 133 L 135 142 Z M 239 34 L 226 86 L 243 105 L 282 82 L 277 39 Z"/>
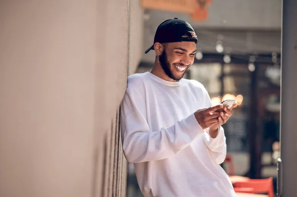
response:
<path fill-rule="evenodd" d="M 194 63 L 197 36 L 177 18 L 159 25 L 153 69 L 128 78 L 121 105 L 125 157 L 145 197 L 236 197 L 222 167 L 230 109 L 214 112 L 204 86 L 182 79 Z"/>

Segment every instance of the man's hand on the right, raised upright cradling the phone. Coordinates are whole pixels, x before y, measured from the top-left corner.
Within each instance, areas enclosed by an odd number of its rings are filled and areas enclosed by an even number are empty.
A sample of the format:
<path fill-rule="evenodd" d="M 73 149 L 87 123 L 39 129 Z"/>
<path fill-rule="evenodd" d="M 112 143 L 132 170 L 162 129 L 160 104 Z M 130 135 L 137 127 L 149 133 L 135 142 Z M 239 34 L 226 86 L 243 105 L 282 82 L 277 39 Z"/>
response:
<path fill-rule="evenodd" d="M 227 107 L 224 107 L 224 111 L 219 113 L 220 116 L 217 118 L 218 122 L 209 127 L 210 137 L 215 138 L 218 135 L 219 127 L 225 124 L 228 121 L 228 119 L 232 116 L 232 109 L 236 105 L 237 103 L 234 103 L 229 109 Z"/>

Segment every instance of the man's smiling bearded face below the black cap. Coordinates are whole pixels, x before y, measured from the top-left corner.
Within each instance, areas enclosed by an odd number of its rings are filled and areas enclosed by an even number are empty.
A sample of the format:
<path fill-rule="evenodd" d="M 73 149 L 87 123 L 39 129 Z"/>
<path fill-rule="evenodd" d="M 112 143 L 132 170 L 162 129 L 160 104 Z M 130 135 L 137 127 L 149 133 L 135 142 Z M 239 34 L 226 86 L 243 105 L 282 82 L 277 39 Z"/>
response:
<path fill-rule="evenodd" d="M 186 70 L 194 63 L 196 43 L 191 41 L 166 43 L 159 62 L 165 74 L 179 81 Z"/>

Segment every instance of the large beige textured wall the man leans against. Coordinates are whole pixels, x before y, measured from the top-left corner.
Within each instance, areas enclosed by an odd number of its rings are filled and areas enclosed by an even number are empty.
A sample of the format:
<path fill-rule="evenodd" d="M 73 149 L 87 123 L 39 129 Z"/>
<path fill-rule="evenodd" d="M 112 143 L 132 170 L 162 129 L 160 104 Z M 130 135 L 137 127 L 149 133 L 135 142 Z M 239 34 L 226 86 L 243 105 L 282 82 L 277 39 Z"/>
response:
<path fill-rule="evenodd" d="M 143 24 L 133 1 L 0 1 L 0 197 L 125 196 L 119 104 L 143 42 L 130 38 Z"/>

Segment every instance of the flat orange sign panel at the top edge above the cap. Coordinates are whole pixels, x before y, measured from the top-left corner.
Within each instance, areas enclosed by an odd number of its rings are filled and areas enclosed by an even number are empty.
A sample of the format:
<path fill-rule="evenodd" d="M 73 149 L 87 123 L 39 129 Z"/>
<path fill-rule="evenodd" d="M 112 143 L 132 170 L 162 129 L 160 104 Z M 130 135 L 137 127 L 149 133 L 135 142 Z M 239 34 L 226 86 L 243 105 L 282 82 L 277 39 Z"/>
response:
<path fill-rule="evenodd" d="M 172 12 L 193 13 L 197 0 L 142 0 L 142 6 Z"/>

